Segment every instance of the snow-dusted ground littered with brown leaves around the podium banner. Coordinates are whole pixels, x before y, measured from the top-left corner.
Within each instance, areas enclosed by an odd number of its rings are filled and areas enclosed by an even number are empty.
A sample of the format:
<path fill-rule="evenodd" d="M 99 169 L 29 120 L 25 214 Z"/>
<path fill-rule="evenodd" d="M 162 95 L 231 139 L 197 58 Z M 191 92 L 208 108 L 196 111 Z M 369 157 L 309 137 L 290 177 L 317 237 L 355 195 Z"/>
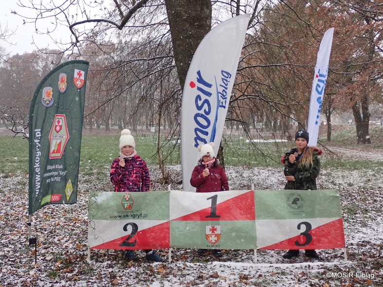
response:
<path fill-rule="evenodd" d="M 361 151 L 333 149 L 338 155 Z M 326 155 L 325 155 L 326 156 Z M 328 155 L 329 156 L 329 155 Z M 366 157 L 383 161 L 383 151 Z M 153 190 L 167 189 L 151 171 Z M 171 180 L 181 178 L 179 165 L 168 167 Z M 282 189 L 279 168 L 226 168 L 230 188 Z M 226 287 L 226 286 L 383 286 L 383 178 L 382 170 L 345 171 L 323 169 L 321 189 L 340 191 L 347 245 L 343 250 L 320 250 L 320 259 L 301 256 L 286 260 L 284 251 L 224 250 L 222 258 L 200 256 L 195 250 L 174 249 L 171 263 L 127 262 L 121 251 L 91 251 L 87 262 L 87 208 L 90 190 L 105 190 L 108 182 L 85 180 L 80 174 L 78 201 L 73 205 L 51 205 L 33 216 L 32 237 L 38 247 L 28 245 L 27 175 L 0 175 L 0 287 L 11 286 L 137 286 L 137 287 Z M 179 189 L 176 183 L 172 189 Z M 167 256 L 167 250 L 158 250 Z M 143 251 L 138 251 L 144 257 Z"/>

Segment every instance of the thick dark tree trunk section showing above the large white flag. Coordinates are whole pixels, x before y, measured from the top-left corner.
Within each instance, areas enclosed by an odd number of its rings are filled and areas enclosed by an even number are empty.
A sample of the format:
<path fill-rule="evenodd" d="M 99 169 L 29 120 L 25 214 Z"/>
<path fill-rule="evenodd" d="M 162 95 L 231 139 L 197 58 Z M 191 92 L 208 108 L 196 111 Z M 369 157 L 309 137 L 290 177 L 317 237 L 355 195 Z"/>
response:
<path fill-rule="evenodd" d="M 165 0 L 177 74 L 183 88 L 190 62 L 211 30 L 211 0 Z"/>

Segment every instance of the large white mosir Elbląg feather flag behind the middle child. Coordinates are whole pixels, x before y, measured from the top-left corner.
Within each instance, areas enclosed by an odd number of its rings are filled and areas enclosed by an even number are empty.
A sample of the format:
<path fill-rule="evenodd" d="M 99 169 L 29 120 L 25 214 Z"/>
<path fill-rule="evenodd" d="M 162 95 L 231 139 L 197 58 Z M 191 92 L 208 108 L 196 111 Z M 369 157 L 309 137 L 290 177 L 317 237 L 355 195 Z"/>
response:
<path fill-rule="evenodd" d="M 250 14 L 213 28 L 193 56 L 183 88 L 181 114 L 182 189 L 194 191 L 190 177 L 198 145 L 214 142 L 217 154 Z"/>

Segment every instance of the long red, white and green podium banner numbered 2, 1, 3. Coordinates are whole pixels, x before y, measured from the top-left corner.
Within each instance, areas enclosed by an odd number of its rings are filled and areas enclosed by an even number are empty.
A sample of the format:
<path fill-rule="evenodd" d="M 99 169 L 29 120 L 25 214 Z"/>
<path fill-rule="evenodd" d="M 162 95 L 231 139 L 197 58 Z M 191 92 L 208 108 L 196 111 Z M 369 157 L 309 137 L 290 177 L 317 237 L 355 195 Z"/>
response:
<path fill-rule="evenodd" d="M 345 247 L 337 190 L 91 192 L 92 249 Z"/>

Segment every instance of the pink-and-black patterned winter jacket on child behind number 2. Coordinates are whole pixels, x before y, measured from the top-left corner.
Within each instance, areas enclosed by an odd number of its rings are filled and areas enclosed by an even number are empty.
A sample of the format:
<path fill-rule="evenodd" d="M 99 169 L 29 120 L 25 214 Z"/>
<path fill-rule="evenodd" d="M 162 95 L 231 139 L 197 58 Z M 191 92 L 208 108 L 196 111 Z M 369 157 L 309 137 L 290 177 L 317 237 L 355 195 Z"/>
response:
<path fill-rule="evenodd" d="M 139 155 L 126 159 L 125 167 L 121 167 L 119 162 L 120 158 L 115 159 L 110 168 L 110 181 L 114 185 L 114 191 L 149 191 L 149 170 Z"/>

